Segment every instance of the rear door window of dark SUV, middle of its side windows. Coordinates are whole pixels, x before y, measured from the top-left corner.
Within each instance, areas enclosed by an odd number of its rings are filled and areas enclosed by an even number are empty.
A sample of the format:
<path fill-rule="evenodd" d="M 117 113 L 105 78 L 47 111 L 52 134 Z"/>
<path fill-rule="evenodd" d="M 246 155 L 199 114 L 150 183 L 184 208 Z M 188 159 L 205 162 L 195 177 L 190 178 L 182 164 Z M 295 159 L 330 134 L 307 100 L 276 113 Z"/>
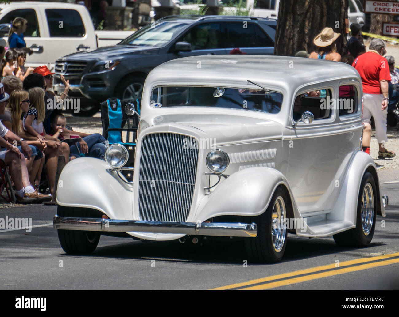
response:
<path fill-rule="evenodd" d="M 227 23 L 229 30 L 229 39 L 227 47 L 257 47 L 257 34 L 255 33 L 255 25 L 247 23 L 247 27 L 244 28 L 244 24 L 238 23 Z M 273 45 L 274 46 L 274 45 Z"/>

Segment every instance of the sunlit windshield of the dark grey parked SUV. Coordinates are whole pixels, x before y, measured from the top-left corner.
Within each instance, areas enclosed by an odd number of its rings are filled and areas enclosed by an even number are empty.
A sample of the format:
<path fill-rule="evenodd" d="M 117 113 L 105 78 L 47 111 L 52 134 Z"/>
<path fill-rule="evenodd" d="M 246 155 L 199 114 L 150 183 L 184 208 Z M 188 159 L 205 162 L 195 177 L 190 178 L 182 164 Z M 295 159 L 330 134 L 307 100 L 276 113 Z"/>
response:
<path fill-rule="evenodd" d="M 151 45 L 162 46 L 174 38 L 187 23 L 164 21 L 155 24 L 148 24 L 140 31 L 133 33 L 121 41 L 120 45 Z"/>

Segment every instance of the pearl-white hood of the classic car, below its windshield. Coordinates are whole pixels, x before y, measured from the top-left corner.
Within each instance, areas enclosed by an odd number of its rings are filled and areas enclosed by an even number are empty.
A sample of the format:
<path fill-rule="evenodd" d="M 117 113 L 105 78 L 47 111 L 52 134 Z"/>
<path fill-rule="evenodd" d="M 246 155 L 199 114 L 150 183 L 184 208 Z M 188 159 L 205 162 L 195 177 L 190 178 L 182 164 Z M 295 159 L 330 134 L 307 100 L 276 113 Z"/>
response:
<path fill-rule="evenodd" d="M 145 120 L 145 118 L 143 119 Z M 161 115 L 148 123 L 150 125 L 175 123 L 194 127 L 203 131 L 210 139 L 215 139 L 214 144 L 217 146 L 265 139 L 281 139 L 283 131 L 282 124 L 272 119 L 226 114 Z"/>

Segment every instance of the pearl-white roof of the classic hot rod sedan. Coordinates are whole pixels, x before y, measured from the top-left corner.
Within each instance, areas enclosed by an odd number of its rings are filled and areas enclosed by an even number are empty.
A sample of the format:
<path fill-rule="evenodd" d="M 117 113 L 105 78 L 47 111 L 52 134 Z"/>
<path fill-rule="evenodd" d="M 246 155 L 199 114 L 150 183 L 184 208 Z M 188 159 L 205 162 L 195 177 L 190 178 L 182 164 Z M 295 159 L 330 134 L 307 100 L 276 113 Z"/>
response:
<path fill-rule="evenodd" d="M 357 78 L 358 71 L 345 63 L 304 57 L 265 55 L 202 55 L 168 61 L 148 75 L 151 82 L 185 82 L 245 87 L 247 80 L 295 90 L 304 84 Z"/>

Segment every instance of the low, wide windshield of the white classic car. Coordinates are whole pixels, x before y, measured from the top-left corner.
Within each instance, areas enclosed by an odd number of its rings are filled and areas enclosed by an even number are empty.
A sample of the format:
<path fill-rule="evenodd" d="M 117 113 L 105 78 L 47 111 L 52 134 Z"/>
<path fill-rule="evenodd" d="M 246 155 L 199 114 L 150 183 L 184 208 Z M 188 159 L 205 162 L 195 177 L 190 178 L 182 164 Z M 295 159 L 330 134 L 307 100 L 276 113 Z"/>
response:
<path fill-rule="evenodd" d="M 282 94 L 247 88 L 158 86 L 152 90 L 151 104 L 154 108 L 197 106 L 279 113 Z"/>

